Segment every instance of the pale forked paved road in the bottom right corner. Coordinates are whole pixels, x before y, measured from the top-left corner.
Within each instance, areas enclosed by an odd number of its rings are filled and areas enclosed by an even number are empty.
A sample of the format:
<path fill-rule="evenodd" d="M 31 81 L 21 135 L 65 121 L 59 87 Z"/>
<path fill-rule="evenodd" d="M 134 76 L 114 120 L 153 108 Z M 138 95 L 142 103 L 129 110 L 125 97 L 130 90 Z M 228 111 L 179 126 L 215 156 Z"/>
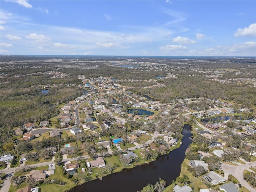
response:
<path fill-rule="evenodd" d="M 246 170 L 249 167 L 254 167 L 256 166 L 256 162 L 251 162 L 247 164 L 242 164 L 242 165 L 230 165 L 227 163 L 222 163 L 221 169 L 225 173 L 225 179 L 228 179 L 228 175 L 232 174 L 237 180 L 244 186 L 246 189 L 248 189 L 250 192 L 256 192 L 256 189 L 254 189 L 250 184 L 244 180 L 244 170 Z"/>

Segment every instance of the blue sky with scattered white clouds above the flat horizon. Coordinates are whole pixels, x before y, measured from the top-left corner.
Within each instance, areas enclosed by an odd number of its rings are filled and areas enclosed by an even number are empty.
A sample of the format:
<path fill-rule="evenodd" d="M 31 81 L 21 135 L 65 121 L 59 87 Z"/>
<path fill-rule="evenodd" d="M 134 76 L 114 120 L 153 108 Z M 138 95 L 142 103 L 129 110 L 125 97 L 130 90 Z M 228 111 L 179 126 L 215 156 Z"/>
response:
<path fill-rule="evenodd" d="M 256 1 L 0 0 L 0 54 L 256 56 Z"/>

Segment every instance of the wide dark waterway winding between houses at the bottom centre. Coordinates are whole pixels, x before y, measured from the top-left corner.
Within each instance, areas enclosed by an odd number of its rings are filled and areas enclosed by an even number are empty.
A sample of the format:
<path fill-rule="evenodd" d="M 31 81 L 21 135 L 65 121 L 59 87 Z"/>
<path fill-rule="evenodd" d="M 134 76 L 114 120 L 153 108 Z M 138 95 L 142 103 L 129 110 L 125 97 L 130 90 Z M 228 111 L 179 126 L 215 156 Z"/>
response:
<path fill-rule="evenodd" d="M 104 176 L 103 180 L 92 180 L 72 188 L 72 192 L 137 192 L 148 183 L 154 185 L 159 178 L 166 181 L 166 186 L 180 175 L 181 164 L 185 158 L 185 151 L 191 144 L 191 127 L 185 125 L 183 129 L 182 145 L 169 154 L 158 157 L 149 164 L 124 169 L 121 172 Z"/>

